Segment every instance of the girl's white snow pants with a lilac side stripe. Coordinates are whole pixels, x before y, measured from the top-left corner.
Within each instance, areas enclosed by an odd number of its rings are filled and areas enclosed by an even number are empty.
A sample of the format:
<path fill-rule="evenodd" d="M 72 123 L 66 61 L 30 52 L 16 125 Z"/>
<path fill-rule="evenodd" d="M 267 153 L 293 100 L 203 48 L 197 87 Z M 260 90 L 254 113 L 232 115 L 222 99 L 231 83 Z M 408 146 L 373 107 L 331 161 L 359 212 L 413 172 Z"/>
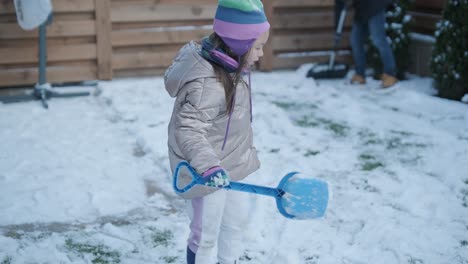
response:
<path fill-rule="evenodd" d="M 187 201 L 190 217 L 189 249 L 196 264 L 234 264 L 242 253 L 242 233 L 248 224 L 249 194 L 221 189 Z"/>

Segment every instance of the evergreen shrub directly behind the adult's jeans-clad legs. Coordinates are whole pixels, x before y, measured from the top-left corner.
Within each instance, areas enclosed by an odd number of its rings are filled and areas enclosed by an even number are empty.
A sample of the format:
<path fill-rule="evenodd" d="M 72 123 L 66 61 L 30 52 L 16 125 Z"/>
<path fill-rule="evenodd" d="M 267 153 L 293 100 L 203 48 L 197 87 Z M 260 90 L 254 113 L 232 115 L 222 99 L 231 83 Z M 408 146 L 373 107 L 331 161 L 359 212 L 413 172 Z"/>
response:
<path fill-rule="evenodd" d="M 386 12 L 385 28 L 387 36 L 390 39 L 390 46 L 393 50 L 396 63 L 396 77 L 400 80 L 405 78 L 405 72 L 408 69 L 409 56 L 409 24 L 411 16 L 407 14 L 412 0 L 399 0 L 392 4 Z M 383 72 L 383 65 L 380 60 L 380 54 L 377 48 L 368 41 L 367 62 L 374 69 L 374 77 L 379 78 Z"/>

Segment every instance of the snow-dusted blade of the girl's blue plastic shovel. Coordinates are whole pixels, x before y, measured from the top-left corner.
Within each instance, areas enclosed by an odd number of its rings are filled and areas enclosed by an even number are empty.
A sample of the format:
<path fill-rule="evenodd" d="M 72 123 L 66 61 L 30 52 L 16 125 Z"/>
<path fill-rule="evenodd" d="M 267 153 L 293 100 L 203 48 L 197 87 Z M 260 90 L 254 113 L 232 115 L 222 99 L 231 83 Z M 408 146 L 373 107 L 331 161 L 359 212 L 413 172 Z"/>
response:
<path fill-rule="evenodd" d="M 278 189 L 284 195 L 276 199 L 278 210 L 294 219 L 323 217 L 328 205 L 328 184 L 325 181 L 290 173 L 280 182 Z"/>

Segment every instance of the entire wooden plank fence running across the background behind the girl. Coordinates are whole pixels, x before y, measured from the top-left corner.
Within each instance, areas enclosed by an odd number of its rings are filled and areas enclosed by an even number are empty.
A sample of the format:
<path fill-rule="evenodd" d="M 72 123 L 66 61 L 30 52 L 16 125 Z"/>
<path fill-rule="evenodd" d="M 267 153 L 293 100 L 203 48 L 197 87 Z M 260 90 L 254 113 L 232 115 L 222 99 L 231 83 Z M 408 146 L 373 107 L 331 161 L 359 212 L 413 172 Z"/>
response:
<path fill-rule="evenodd" d="M 442 0 L 418 0 L 421 14 Z M 47 79 L 52 83 L 161 74 L 177 50 L 212 31 L 217 0 L 52 0 Z M 428 4 L 429 3 L 429 4 Z M 333 44 L 334 0 L 264 0 L 272 25 L 262 70 L 326 60 Z M 434 8 L 435 7 L 435 8 Z M 420 14 L 421 13 L 421 14 Z M 430 16 L 430 19 L 438 19 Z M 349 50 L 351 18 L 340 50 Z M 432 27 L 433 30 L 433 27 Z M 37 82 L 37 30 L 16 23 L 12 0 L 0 0 L 0 87 Z M 338 60 L 349 61 L 349 52 Z"/>

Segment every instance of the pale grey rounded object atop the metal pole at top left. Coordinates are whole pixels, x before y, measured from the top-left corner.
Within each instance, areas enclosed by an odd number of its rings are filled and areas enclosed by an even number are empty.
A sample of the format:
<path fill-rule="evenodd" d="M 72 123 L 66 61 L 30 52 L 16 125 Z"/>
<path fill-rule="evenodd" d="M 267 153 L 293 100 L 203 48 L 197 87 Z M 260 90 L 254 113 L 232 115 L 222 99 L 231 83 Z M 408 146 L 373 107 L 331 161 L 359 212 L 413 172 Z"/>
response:
<path fill-rule="evenodd" d="M 32 30 L 46 22 L 52 12 L 50 0 L 14 0 L 18 24 L 24 30 Z"/>

